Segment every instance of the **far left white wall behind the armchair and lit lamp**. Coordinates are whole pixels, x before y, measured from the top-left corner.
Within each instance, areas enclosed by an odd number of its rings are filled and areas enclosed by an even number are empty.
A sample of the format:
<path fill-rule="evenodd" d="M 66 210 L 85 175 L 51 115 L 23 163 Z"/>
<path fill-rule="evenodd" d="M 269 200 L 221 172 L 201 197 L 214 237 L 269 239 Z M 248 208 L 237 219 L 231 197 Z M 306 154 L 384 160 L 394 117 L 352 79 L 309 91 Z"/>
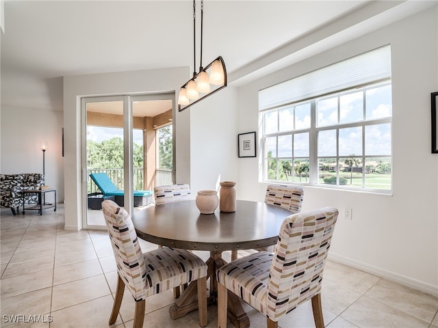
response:
<path fill-rule="evenodd" d="M 57 189 L 57 202 L 64 201 L 62 157 L 62 111 L 21 107 L 1 108 L 1 174 L 42 173 L 40 143 L 47 141 L 45 182 Z M 47 194 L 47 201 L 53 193 Z"/>

